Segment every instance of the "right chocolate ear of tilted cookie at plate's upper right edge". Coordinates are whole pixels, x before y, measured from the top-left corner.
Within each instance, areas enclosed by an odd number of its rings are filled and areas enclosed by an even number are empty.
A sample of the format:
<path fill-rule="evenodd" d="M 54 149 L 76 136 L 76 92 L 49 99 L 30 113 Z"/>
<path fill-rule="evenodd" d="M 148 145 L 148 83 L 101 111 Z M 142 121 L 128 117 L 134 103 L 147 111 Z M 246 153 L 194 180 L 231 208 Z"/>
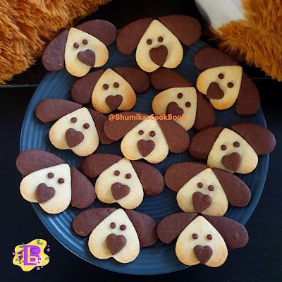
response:
<path fill-rule="evenodd" d="M 243 73 L 235 111 L 240 115 L 250 116 L 257 113 L 259 107 L 259 90 L 257 90 L 255 83 Z"/>

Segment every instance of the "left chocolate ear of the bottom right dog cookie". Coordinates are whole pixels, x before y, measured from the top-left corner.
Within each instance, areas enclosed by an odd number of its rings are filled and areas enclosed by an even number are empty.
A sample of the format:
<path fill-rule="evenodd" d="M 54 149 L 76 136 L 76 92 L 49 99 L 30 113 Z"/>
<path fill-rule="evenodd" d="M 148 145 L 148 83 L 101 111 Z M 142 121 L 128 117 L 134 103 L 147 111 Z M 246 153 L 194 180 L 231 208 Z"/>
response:
<path fill-rule="evenodd" d="M 195 212 L 178 212 L 164 217 L 157 226 L 159 239 L 171 243 L 197 215 Z"/>

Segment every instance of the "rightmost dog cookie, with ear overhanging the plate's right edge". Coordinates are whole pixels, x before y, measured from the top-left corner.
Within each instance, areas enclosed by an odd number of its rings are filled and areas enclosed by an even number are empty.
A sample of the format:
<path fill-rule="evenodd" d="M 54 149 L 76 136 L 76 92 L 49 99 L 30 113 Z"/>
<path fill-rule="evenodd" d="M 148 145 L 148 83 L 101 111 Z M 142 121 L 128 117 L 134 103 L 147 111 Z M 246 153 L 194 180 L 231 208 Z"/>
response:
<path fill-rule="evenodd" d="M 245 174 L 257 167 L 259 155 L 271 153 L 275 145 L 275 137 L 267 128 L 240 123 L 230 129 L 216 126 L 196 133 L 189 153 L 195 159 L 207 159 L 211 168 Z"/>

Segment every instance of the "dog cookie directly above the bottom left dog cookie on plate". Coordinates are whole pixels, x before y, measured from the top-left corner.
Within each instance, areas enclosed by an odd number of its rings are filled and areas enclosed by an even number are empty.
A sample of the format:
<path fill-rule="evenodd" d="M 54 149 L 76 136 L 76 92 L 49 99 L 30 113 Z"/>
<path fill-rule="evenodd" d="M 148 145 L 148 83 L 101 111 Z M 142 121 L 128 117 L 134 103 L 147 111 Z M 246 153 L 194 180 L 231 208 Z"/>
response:
<path fill-rule="evenodd" d="M 138 207 L 144 196 L 164 190 L 161 173 L 142 161 L 130 161 L 116 154 L 92 154 L 82 160 L 81 171 L 96 178 L 95 191 L 101 202 L 117 202 L 125 209 Z"/>

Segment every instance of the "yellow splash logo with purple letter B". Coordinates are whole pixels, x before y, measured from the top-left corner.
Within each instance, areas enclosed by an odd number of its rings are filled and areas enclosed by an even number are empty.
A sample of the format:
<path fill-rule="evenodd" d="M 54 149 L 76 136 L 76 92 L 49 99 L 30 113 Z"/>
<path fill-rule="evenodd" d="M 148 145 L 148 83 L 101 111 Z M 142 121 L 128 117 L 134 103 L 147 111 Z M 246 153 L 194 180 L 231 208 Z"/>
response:
<path fill-rule="evenodd" d="M 30 271 L 36 267 L 37 270 L 49 264 L 50 257 L 44 253 L 47 242 L 43 239 L 32 240 L 28 244 L 15 247 L 13 252 L 13 264 L 20 266 L 23 271 Z M 49 246 L 47 252 L 49 252 Z"/>

